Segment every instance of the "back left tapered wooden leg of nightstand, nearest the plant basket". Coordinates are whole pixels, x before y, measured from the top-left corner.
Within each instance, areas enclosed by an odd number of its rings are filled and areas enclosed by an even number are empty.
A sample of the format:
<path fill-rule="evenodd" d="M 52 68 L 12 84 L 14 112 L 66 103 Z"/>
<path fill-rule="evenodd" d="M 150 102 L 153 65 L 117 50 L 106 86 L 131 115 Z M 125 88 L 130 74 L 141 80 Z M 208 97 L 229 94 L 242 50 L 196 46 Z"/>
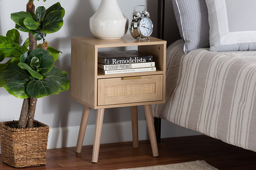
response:
<path fill-rule="evenodd" d="M 82 150 L 84 134 L 85 134 L 85 130 L 86 130 L 87 122 L 88 122 L 90 109 L 91 109 L 90 107 L 84 105 L 80 128 L 79 128 L 79 132 L 78 132 L 77 143 L 76 143 L 76 153 L 81 153 L 81 150 Z"/>

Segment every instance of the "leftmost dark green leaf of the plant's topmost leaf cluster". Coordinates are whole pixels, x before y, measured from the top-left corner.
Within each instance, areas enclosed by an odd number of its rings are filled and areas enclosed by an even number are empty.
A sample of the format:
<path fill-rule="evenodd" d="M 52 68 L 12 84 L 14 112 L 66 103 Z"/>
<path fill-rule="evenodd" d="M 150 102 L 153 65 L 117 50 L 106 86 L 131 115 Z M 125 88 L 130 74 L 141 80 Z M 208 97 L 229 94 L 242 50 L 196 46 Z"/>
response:
<path fill-rule="evenodd" d="M 25 11 L 20 11 L 20 12 L 15 12 L 11 14 L 12 20 L 19 26 L 21 27 L 26 27 L 23 23 L 25 18 L 31 18 L 36 20 L 36 15 L 31 12 L 25 12 Z"/>

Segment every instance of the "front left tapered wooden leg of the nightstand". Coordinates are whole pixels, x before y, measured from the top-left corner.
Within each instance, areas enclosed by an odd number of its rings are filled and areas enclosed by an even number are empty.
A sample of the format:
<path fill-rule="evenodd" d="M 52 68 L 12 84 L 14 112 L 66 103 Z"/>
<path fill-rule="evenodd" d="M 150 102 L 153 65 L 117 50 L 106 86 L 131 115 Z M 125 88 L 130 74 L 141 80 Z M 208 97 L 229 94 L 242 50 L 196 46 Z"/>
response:
<path fill-rule="evenodd" d="M 99 158 L 100 137 L 101 137 L 102 124 L 103 124 L 103 117 L 104 117 L 104 109 L 97 109 L 94 142 L 93 142 L 93 149 L 92 149 L 93 163 L 97 163 Z"/>

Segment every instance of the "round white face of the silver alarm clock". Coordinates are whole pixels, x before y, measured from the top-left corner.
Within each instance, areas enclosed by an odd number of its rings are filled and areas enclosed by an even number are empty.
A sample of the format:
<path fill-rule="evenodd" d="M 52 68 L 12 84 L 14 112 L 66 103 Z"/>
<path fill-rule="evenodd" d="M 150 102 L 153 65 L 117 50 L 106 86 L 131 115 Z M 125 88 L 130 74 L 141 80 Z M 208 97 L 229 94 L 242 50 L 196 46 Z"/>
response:
<path fill-rule="evenodd" d="M 139 28 L 143 37 L 149 37 L 153 31 L 152 21 L 148 17 L 141 18 Z"/>

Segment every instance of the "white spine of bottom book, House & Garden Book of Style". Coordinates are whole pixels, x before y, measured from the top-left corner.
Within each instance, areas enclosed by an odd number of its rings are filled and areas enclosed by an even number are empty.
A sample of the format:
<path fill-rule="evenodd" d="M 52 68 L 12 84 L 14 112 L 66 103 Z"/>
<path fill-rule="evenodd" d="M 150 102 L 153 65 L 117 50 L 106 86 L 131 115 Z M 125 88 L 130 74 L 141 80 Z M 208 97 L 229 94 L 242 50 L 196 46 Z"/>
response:
<path fill-rule="evenodd" d="M 132 69 L 121 69 L 121 70 L 101 70 L 98 68 L 98 72 L 102 74 L 121 74 L 121 73 L 137 73 L 146 71 L 156 71 L 156 67 L 145 67 L 145 68 L 132 68 Z"/>

